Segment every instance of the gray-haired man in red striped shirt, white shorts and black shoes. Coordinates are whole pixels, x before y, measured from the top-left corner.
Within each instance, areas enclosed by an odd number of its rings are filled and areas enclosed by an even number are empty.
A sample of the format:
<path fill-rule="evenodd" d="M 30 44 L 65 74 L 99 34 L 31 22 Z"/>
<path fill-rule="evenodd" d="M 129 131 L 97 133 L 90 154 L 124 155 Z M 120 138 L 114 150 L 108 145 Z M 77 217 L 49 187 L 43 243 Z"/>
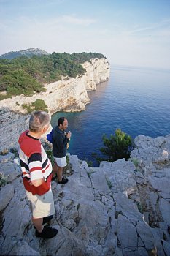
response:
<path fill-rule="evenodd" d="M 53 238 L 58 230 L 44 226 L 55 213 L 51 191 L 52 165 L 39 138 L 47 132 L 50 115 L 44 111 L 34 111 L 29 120 L 29 130 L 23 132 L 18 140 L 18 154 L 23 173 L 26 196 L 31 202 L 32 221 L 36 236 Z"/>

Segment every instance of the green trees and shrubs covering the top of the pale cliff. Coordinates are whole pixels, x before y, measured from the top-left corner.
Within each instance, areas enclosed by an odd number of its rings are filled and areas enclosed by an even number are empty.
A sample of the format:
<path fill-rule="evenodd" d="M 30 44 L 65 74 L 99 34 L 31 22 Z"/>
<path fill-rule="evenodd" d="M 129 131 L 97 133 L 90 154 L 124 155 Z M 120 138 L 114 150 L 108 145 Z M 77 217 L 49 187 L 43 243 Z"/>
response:
<path fill-rule="evenodd" d="M 0 100 L 12 95 L 31 96 L 45 91 L 43 85 L 61 80 L 61 75 L 72 78 L 81 76 L 85 73 L 81 64 L 92 58 L 101 59 L 104 56 L 101 53 L 52 53 L 0 59 Z"/>

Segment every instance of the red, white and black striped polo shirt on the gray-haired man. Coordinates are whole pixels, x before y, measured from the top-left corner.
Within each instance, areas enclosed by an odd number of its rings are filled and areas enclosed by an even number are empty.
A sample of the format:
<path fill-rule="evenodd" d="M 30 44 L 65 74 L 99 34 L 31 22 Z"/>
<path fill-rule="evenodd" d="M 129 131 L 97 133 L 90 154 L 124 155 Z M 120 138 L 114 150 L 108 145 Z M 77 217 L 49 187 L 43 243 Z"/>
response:
<path fill-rule="evenodd" d="M 50 189 L 52 178 L 52 165 L 45 149 L 39 139 L 28 135 L 28 131 L 20 135 L 18 143 L 18 154 L 20 157 L 24 187 L 28 192 L 32 192 L 33 195 L 45 194 L 45 192 Z M 30 184 L 30 181 L 40 178 L 45 178 L 45 182 L 39 187 Z"/>

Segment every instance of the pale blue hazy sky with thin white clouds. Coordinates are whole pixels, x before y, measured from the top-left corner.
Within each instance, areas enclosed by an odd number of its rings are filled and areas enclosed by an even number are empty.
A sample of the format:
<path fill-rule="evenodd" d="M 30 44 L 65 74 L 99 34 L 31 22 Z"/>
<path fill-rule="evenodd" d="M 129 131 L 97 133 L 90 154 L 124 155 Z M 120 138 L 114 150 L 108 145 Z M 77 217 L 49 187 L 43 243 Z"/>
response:
<path fill-rule="evenodd" d="M 170 0 L 0 0 L 0 55 L 28 48 L 170 69 Z"/>

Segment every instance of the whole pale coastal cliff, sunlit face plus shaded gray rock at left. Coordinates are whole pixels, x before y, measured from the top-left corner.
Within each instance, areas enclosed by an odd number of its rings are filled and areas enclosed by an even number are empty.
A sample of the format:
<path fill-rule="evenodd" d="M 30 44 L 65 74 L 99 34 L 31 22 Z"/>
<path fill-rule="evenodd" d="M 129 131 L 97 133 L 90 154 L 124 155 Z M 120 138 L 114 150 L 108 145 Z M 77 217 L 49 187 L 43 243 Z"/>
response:
<path fill-rule="evenodd" d="M 0 101 L 0 151 L 16 145 L 21 132 L 28 129 L 28 118 L 22 104 L 43 99 L 51 114 L 58 111 L 85 110 L 90 102 L 87 91 L 96 90 L 96 84 L 109 80 L 107 59 L 91 59 L 83 64 L 86 72 L 80 78 L 63 78 L 45 85 L 47 91 L 32 97 L 23 95 Z"/>

